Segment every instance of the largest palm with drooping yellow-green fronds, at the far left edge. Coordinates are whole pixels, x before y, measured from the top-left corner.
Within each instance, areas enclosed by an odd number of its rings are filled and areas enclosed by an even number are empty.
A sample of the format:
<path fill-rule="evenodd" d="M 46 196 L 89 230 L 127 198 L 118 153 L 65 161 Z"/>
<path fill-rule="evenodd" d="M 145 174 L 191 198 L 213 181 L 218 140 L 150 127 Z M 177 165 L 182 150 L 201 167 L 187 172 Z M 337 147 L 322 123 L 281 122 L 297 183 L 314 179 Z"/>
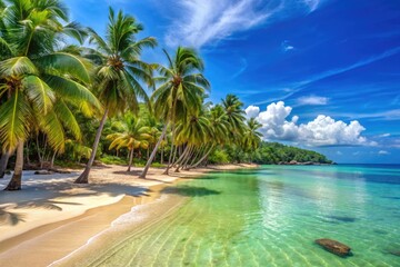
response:
<path fill-rule="evenodd" d="M 99 103 L 82 86 L 90 81 L 89 63 L 54 49 L 68 33 L 62 22 L 68 20 L 67 10 L 60 1 L 13 0 L 2 17 L 2 40 L 10 51 L 0 61 L 0 99 L 6 98 L 0 107 L 0 142 L 3 151 L 17 148 L 14 172 L 6 190 L 19 190 L 23 142 L 30 132 L 39 128 L 50 146 L 62 151 L 63 126 L 79 136 L 68 103 Z"/>

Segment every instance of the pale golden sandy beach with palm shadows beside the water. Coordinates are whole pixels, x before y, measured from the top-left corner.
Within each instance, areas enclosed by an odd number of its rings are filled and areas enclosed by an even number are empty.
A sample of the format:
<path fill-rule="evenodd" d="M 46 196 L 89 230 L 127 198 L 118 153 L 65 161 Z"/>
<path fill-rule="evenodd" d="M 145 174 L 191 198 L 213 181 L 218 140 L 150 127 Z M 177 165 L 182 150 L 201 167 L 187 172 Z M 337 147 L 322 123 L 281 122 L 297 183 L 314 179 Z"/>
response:
<path fill-rule="evenodd" d="M 157 204 L 163 198 L 161 190 L 166 186 L 208 171 L 251 167 L 256 166 L 213 166 L 171 171 L 171 176 L 152 168 L 144 180 L 138 178 L 141 168 L 127 172 L 124 166 L 102 166 L 93 168 L 89 185 L 73 184 L 80 171 L 52 175 L 24 171 L 21 191 L 0 191 L 0 266 L 62 265 L 60 259 L 93 239 L 113 238 L 102 233 L 120 225 L 123 215 L 136 212 L 136 227 L 149 227 L 149 221 L 179 206 L 182 198 L 171 196 Z M 0 187 L 9 178 L 0 179 Z M 141 208 L 144 206 L 146 209 Z"/>

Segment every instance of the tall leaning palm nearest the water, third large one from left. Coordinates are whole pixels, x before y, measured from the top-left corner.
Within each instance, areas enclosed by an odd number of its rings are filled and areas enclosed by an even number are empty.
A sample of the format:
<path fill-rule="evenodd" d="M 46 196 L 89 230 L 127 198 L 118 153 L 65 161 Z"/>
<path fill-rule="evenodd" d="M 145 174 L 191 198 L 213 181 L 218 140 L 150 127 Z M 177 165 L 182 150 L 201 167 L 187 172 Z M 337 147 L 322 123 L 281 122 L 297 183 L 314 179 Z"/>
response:
<path fill-rule="evenodd" d="M 164 120 L 164 128 L 140 178 L 146 178 L 157 150 L 167 134 L 167 129 L 171 126 L 171 152 L 164 172 L 168 175 L 168 170 L 173 161 L 172 151 L 177 120 L 183 118 L 188 110 L 199 110 L 202 103 L 202 96 L 210 88 L 209 81 L 201 73 L 203 71 L 203 62 L 194 50 L 179 47 L 173 58 L 166 50 L 164 53 L 168 59 L 168 67 L 159 67 L 160 77 L 157 78 L 157 81 L 160 85 L 151 96 L 154 102 L 154 112 Z"/>

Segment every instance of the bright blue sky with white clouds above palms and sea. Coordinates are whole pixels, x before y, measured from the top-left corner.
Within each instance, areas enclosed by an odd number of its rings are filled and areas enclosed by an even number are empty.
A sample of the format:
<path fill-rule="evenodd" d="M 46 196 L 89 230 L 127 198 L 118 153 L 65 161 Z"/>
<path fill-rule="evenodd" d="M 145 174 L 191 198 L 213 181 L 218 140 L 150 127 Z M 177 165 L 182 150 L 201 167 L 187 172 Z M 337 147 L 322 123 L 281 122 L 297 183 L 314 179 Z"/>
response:
<path fill-rule="evenodd" d="M 338 162 L 400 162 L 398 0 L 68 0 L 103 32 L 108 6 L 133 14 L 159 48 L 196 47 L 218 102 L 236 93 L 268 140 Z"/>

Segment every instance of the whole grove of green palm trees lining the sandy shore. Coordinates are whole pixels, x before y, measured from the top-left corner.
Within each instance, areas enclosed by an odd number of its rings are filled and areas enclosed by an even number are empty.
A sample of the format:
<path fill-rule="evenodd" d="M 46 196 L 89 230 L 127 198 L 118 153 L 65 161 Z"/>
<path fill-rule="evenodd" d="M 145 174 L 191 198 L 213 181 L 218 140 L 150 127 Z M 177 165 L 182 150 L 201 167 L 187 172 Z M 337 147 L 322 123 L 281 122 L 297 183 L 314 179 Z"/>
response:
<path fill-rule="evenodd" d="M 139 162 L 141 178 L 154 162 L 168 175 L 226 162 L 222 154 L 260 159 L 261 125 L 246 118 L 237 96 L 207 100 L 198 52 L 178 47 L 163 50 L 167 65 L 144 62 L 143 50 L 158 43 L 138 39 L 141 31 L 112 8 L 100 34 L 69 21 L 60 0 L 0 0 L 0 177 L 13 162 L 6 190 L 21 189 L 23 166 L 33 162 L 86 161 L 76 182 L 87 184 L 97 158 L 128 171 Z"/>

